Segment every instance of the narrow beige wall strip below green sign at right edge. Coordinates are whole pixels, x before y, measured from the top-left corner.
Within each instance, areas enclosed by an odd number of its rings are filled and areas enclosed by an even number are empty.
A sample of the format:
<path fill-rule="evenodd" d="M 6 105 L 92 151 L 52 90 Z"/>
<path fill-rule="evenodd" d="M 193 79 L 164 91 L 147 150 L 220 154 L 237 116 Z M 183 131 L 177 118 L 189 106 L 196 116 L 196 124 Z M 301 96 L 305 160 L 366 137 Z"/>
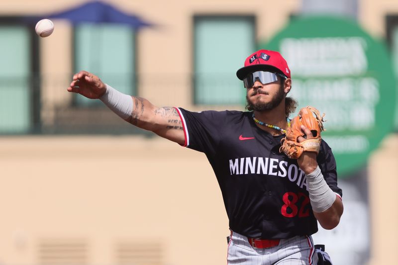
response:
<path fill-rule="evenodd" d="M 397 264 L 397 148 L 398 134 L 390 135 L 369 159 L 371 265 Z"/>

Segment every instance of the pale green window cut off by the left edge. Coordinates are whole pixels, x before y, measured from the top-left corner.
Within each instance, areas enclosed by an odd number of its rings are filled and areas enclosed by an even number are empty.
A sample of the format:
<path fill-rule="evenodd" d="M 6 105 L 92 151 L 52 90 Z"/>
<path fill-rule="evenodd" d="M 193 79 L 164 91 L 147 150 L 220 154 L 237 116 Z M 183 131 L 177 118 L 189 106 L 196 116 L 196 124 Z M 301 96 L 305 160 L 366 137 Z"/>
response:
<path fill-rule="evenodd" d="M 0 26 L 0 133 L 31 129 L 31 37 L 26 26 Z"/>

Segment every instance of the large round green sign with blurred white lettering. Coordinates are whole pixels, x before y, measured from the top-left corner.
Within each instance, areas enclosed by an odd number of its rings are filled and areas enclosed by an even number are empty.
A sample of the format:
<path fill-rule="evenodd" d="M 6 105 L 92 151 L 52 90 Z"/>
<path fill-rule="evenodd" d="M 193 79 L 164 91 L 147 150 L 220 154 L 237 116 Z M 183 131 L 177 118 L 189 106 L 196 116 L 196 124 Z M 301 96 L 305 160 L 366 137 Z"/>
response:
<path fill-rule="evenodd" d="M 396 84 L 385 45 L 354 20 L 309 16 L 291 20 L 259 48 L 287 60 L 289 95 L 298 109 L 311 105 L 326 113 L 322 138 L 333 150 L 339 177 L 364 166 L 394 124 Z"/>

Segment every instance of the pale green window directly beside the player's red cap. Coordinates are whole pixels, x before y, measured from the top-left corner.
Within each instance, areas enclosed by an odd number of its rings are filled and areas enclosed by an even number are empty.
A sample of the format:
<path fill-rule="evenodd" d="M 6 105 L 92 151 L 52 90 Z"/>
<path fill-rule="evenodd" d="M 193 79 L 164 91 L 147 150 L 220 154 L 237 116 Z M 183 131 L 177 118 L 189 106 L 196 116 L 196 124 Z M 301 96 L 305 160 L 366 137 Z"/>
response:
<path fill-rule="evenodd" d="M 244 104 L 246 90 L 236 77 L 254 52 L 253 16 L 194 17 L 194 102 Z"/>

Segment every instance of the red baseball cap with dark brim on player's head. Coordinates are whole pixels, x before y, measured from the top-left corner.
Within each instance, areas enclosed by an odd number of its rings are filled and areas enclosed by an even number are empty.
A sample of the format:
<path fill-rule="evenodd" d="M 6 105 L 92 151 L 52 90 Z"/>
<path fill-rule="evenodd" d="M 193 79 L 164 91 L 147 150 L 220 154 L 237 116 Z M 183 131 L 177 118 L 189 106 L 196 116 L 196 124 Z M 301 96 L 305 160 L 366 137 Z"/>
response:
<path fill-rule="evenodd" d="M 245 66 L 236 72 L 236 76 L 243 80 L 248 74 L 256 71 L 277 71 L 291 78 L 290 69 L 286 60 L 279 52 L 259 50 L 245 60 Z"/>

